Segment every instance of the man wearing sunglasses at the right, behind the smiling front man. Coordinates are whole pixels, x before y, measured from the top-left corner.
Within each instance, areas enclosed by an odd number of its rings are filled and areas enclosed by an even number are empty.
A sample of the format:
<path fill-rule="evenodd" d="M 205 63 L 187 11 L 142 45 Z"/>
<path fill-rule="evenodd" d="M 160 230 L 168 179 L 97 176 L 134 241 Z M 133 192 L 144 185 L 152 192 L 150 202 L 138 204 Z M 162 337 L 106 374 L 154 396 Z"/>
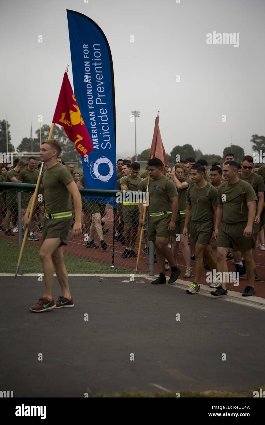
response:
<path fill-rule="evenodd" d="M 254 220 L 254 224 L 252 227 L 253 230 L 253 235 L 255 238 L 255 248 L 252 249 L 252 255 L 253 255 L 253 259 L 256 263 L 256 240 L 258 237 L 258 233 L 260 232 L 260 230 L 262 229 L 262 220 L 260 219 L 262 211 L 263 211 L 263 207 L 264 207 L 264 190 L 265 190 L 265 184 L 263 181 L 262 176 L 259 175 L 255 175 L 253 173 L 253 168 L 254 168 L 254 163 L 253 163 L 253 158 L 252 156 L 246 155 L 244 156 L 244 158 L 242 159 L 241 162 L 241 171 L 238 173 L 238 177 L 241 180 L 245 180 L 248 183 L 251 184 L 251 186 L 254 189 L 254 192 L 256 194 L 256 197 L 258 198 L 256 201 L 256 212 L 255 212 L 255 220 Z M 235 257 L 236 253 L 234 252 L 234 257 Z M 241 254 L 240 254 L 241 255 Z M 256 274 L 256 270 L 255 270 L 255 280 L 261 280 L 259 276 L 257 276 Z"/>

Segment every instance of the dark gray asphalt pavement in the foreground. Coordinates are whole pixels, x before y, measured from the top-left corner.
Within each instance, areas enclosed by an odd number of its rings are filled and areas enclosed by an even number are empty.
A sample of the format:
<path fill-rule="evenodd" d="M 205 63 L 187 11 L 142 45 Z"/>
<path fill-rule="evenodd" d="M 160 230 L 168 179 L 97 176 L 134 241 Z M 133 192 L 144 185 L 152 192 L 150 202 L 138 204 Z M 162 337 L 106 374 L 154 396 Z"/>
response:
<path fill-rule="evenodd" d="M 114 394 L 162 387 L 181 395 L 265 383 L 264 310 L 144 278 L 69 282 L 74 308 L 33 313 L 28 309 L 43 295 L 43 282 L 0 277 L 0 390 L 83 397 L 88 388 Z"/>

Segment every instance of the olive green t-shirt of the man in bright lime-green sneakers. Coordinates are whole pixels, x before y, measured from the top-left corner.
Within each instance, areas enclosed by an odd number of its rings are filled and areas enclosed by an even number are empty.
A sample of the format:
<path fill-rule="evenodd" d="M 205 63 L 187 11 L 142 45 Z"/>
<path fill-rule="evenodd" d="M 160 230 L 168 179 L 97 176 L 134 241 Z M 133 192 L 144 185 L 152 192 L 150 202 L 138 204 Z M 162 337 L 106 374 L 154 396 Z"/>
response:
<path fill-rule="evenodd" d="M 217 189 L 210 183 L 198 188 L 192 184 L 187 190 L 187 204 L 191 205 L 191 221 L 206 221 L 214 218 L 212 207 L 217 206 Z"/>

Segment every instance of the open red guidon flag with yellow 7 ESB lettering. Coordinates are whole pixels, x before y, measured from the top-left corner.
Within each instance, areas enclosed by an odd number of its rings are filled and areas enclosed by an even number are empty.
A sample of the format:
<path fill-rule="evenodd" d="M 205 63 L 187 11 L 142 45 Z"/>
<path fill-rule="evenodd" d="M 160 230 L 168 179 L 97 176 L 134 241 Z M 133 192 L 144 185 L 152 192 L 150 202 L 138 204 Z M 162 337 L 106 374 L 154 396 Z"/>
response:
<path fill-rule="evenodd" d="M 76 98 L 74 97 L 67 72 L 63 76 L 63 84 L 52 122 L 64 128 L 67 136 L 74 142 L 75 148 L 80 155 L 85 156 L 91 152 L 93 144 L 85 127 Z"/>

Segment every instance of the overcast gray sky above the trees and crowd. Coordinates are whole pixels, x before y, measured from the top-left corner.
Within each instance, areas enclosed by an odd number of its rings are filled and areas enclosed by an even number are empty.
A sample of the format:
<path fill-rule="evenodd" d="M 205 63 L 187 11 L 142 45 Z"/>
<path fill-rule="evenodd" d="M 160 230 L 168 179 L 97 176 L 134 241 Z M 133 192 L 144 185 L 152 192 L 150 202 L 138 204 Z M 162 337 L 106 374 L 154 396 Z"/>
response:
<path fill-rule="evenodd" d="M 67 8 L 108 39 L 118 156 L 135 152 L 134 109 L 137 153 L 151 145 L 157 111 L 167 153 L 190 143 L 222 155 L 231 137 L 252 153 L 251 135 L 265 134 L 264 0 L 1 0 L 0 119 L 7 115 L 15 147 L 31 121 L 38 129 L 38 114 L 51 124 L 66 64 L 73 86 Z M 239 47 L 206 44 L 213 31 L 239 33 Z"/>

